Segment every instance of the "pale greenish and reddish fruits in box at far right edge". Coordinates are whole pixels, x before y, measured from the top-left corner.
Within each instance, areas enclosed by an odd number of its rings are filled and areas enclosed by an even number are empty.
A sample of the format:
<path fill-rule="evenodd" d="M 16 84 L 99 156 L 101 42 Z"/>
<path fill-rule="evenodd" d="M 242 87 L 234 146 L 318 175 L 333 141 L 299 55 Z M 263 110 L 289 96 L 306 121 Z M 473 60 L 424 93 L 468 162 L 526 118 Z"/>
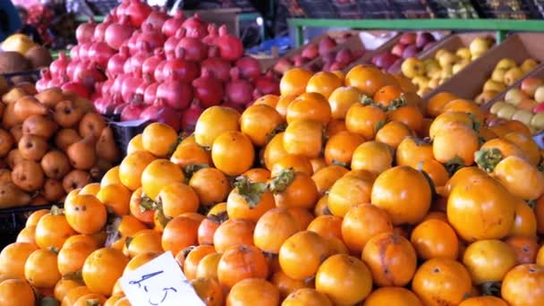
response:
<path fill-rule="evenodd" d="M 544 130 L 544 80 L 538 77 L 523 79 L 519 88 L 506 91 L 503 100 L 490 107 L 498 118 L 525 123 L 533 133 Z"/>

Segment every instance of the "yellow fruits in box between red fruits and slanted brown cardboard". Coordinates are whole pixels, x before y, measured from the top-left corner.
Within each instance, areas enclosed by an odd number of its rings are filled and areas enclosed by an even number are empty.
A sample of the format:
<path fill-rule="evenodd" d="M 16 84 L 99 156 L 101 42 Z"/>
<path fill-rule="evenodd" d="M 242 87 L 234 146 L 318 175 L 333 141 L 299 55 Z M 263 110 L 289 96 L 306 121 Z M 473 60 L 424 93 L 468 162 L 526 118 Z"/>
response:
<path fill-rule="evenodd" d="M 468 47 L 459 47 L 456 50 L 441 48 L 429 58 L 420 59 L 409 55 L 404 57 L 401 72 L 418 87 L 418 94 L 425 96 L 492 46 L 491 39 L 479 37 L 472 39 Z"/>

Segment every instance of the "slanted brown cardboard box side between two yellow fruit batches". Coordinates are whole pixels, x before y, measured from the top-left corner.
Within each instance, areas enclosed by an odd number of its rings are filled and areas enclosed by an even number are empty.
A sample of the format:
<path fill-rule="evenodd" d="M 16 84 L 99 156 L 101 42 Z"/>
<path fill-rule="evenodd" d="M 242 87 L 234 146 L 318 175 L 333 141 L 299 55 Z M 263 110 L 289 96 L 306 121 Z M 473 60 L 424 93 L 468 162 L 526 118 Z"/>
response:
<path fill-rule="evenodd" d="M 510 36 L 502 44 L 492 47 L 485 55 L 472 61 L 437 89 L 429 92 L 423 100 L 428 101 L 442 91 L 453 92 L 459 98 L 476 98 L 501 59 L 509 57 L 517 64 L 522 64 L 527 58 L 544 62 L 544 45 L 541 43 L 543 39 L 544 33 L 517 33 Z"/>

